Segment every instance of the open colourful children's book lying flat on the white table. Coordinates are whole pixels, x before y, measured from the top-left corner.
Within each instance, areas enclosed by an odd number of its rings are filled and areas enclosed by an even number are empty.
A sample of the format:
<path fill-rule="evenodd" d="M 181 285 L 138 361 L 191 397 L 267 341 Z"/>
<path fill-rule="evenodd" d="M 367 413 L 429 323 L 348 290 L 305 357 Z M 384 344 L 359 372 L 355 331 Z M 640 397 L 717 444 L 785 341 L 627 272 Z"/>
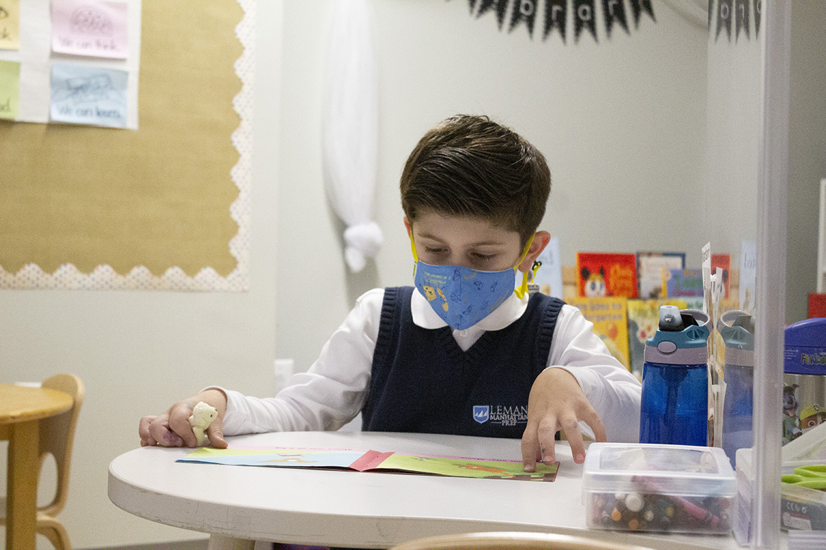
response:
<path fill-rule="evenodd" d="M 559 463 L 537 463 L 536 472 L 523 472 L 522 461 L 466 458 L 358 449 L 212 449 L 202 447 L 177 462 L 265 466 L 269 468 L 322 468 L 355 472 L 407 472 L 449 477 L 481 477 L 553 482 Z"/>

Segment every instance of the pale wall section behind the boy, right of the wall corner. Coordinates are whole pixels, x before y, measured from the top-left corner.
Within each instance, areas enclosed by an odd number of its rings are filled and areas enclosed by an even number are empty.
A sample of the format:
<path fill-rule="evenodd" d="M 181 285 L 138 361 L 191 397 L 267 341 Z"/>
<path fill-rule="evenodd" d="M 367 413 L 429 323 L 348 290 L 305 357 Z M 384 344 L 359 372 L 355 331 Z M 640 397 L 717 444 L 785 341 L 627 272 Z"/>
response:
<path fill-rule="evenodd" d="M 320 168 L 321 80 L 329 0 L 287 2 L 278 210 L 279 357 L 306 370 L 364 290 L 411 284 L 398 178 L 427 129 L 459 112 L 486 114 L 542 150 L 553 186 L 542 228 L 563 264 L 582 251 L 676 249 L 700 266 L 700 232 L 662 230 L 662 214 L 698 219 L 705 171 L 706 29 L 662 2 L 630 34 L 599 42 L 569 30 L 534 39 L 498 31 L 468 2 L 375 0 L 380 81 L 376 219 L 385 244 L 358 275 L 342 261 L 340 227 Z M 599 2 L 597 2 L 599 4 Z M 629 17 L 630 18 L 630 17 Z M 705 240 L 704 240 L 705 239 Z"/>

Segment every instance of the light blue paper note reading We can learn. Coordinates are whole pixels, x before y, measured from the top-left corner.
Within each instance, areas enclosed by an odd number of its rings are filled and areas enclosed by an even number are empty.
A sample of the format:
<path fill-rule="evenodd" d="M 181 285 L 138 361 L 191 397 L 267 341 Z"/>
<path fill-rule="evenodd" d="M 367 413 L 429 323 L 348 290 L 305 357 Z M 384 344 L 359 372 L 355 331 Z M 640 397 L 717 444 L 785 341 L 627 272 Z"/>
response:
<path fill-rule="evenodd" d="M 125 128 L 128 78 L 114 68 L 52 63 L 51 120 Z"/>

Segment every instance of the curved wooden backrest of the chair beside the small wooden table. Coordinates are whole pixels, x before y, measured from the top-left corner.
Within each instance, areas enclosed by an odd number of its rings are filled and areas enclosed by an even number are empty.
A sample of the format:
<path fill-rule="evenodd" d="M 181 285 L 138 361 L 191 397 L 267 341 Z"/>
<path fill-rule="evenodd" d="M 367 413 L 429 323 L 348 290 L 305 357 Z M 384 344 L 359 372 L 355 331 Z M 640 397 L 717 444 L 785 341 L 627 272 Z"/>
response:
<path fill-rule="evenodd" d="M 43 381 L 43 388 L 56 389 L 74 398 L 69 411 L 40 421 L 40 467 L 47 454 L 55 457 L 57 464 L 57 491 L 55 498 L 38 511 L 45 515 L 58 515 L 64 509 L 69 497 L 69 470 L 72 464 L 74 429 L 78 424 L 78 414 L 83 405 L 83 382 L 74 374 L 55 374 Z"/>

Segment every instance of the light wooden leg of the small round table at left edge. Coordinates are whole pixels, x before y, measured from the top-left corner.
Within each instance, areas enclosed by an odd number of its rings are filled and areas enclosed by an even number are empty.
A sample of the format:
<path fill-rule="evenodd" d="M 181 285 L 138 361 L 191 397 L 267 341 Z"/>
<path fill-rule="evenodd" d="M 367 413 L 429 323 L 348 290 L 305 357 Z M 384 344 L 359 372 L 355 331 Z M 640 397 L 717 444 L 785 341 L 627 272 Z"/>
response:
<path fill-rule="evenodd" d="M 10 426 L 6 501 L 6 548 L 35 548 L 37 528 L 38 421 Z"/>

